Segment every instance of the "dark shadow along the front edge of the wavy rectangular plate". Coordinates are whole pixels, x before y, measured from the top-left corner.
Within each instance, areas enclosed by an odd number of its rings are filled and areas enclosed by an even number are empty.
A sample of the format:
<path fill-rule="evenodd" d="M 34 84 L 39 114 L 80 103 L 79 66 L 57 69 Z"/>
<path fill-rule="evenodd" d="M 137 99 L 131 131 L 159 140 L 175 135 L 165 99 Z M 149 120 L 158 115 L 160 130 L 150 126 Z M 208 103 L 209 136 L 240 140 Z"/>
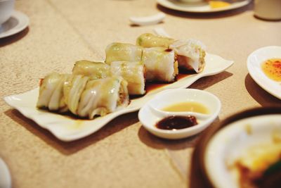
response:
<path fill-rule="evenodd" d="M 25 118 L 19 111 L 12 109 L 5 112 L 5 114 L 13 119 L 16 123 L 25 127 L 25 129 L 29 130 L 35 136 L 39 137 L 40 139 L 44 140 L 46 144 L 52 146 L 53 148 L 60 151 L 64 155 L 71 155 L 73 153 L 77 153 L 81 149 L 86 148 L 91 144 L 96 144 L 100 140 L 104 139 L 105 137 L 109 137 L 111 134 L 115 134 L 115 132 L 119 132 L 124 128 L 138 122 L 138 115 L 137 113 L 127 113 L 125 115 L 120 115 L 118 118 L 110 121 L 107 123 L 105 127 L 98 130 L 88 137 L 84 137 L 82 139 L 72 141 L 72 142 L 63 142 L 57 139 L 51 132 L 45 130 L 44 128 L 34 123 L 33 120 Z M 126 119 L 126 123 L 124 123 L 124 119 Z"/>

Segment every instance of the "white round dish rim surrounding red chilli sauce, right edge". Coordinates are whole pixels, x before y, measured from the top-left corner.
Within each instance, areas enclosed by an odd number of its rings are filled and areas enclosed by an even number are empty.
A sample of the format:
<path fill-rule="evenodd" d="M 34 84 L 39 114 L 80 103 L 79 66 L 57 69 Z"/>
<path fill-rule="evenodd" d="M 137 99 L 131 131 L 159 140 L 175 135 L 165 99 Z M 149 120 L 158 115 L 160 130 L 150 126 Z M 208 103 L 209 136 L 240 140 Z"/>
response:
<path fill-rule="evenodd" d="M 257 49 L 247 58 L 247 68 L 253 80 L 268 93 L 281 99 L 281 83 L 268 78 L 261 70 L 261 63 L 270 58 L 281 58 L 281 46 Z"/>

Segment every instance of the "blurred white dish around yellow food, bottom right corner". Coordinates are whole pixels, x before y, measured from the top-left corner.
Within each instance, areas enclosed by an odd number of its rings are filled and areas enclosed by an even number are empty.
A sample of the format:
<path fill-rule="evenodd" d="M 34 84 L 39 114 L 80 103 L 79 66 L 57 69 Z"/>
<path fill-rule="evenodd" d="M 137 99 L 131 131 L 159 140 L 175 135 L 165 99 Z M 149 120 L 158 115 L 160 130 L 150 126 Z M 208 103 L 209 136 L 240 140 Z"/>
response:
<path fill-rule="evenodd" d="M 230 123 L 209 140 L 204 155 L 207 175 L 214 187 L 240 187 L 233 165 L 241 157 L 256 157 L 252 149 L 265 150 L 281 139 L 281 115 L 257 115 Z M 280 144 L 280 142 L 279 142 Z M 259 151 L 259 154 L 261 154 Z M 256 152 L 257 153 L 257 152 Z"/>

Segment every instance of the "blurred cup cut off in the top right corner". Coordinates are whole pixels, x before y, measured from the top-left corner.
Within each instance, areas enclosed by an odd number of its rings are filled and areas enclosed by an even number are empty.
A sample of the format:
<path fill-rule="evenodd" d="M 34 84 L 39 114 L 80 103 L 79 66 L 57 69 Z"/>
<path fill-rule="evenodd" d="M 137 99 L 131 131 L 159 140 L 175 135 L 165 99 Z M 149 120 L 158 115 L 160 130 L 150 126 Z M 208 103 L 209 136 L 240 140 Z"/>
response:
<path fill-rule="evenodd" d="M 281 0 L 255 0 L 254 15 L 266 20 L 281 20 Z"/>

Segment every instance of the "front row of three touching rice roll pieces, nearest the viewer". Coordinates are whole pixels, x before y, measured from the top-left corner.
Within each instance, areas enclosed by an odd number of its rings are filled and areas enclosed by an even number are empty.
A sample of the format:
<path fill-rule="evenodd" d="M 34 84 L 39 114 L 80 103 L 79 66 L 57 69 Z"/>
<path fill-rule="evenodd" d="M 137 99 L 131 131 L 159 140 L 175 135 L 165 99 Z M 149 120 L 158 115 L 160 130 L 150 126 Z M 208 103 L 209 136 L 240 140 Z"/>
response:
<path fill-rule="evenodd" d="M 41 80 L 37 108 L 70 111 L 79 117 L 105 115 L 129 104 L 127 82 L 112 76 L 91 80 L 85 75 L 51 73 Z"/>

